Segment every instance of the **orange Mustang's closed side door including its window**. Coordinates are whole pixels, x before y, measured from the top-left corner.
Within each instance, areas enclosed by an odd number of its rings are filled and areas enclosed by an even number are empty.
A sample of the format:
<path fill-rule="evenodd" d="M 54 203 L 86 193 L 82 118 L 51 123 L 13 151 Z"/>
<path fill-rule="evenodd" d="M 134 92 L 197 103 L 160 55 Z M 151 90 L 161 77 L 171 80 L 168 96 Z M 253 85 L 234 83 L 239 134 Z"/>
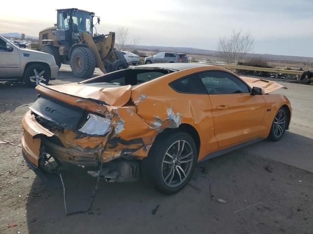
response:
<path fill-rule="evenodd" d="M 245 82 L 224 71 L 198 76 L 209 94 L 219 148 L 258 137 L 266 111 L 262 95 L 251 95 Z"/>

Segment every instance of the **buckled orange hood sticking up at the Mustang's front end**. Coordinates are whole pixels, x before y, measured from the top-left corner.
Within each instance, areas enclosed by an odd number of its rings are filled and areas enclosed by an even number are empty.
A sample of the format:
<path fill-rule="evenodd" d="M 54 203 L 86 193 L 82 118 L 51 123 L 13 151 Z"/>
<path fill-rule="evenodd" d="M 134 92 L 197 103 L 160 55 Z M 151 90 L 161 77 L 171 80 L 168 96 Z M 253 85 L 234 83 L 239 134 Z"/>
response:
<path fill-rule="evenodd" d="M 281 85 L 275 81 L 269 81 L 266 79 L 251 78 L 251 77 L 240 77 L 240 78 L 242 78 L 247 83 L 247 85 L 250 86 L 251 89 L 253 87 L 261 88 L 262 94 L 268 94 L 277 89 L 288 89 L 286 86 Z"/>

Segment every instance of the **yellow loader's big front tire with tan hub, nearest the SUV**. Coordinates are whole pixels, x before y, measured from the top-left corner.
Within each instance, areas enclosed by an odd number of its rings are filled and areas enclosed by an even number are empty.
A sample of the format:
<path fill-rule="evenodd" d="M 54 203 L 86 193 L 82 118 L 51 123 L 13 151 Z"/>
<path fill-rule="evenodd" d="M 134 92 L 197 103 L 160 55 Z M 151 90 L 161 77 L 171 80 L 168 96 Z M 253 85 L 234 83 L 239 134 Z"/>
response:
<path fill-rule="evenodd" d="M 96 67 L 96 59 L 88 47 L 77 47 L 70 55 L 70 67 L 75 77 L 88 79 Z"/>

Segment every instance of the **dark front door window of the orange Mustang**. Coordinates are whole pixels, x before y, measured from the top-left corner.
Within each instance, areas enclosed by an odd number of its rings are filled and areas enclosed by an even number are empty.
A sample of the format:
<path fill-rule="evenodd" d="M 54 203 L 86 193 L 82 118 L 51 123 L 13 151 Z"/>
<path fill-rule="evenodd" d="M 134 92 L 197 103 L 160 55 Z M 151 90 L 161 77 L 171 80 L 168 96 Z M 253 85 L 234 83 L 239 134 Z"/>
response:
<path fill-rule="evenodd" d="M 250 93 L 247 85 L 239 78 L 221 71 L 198 74 L 208 94 Z"/>

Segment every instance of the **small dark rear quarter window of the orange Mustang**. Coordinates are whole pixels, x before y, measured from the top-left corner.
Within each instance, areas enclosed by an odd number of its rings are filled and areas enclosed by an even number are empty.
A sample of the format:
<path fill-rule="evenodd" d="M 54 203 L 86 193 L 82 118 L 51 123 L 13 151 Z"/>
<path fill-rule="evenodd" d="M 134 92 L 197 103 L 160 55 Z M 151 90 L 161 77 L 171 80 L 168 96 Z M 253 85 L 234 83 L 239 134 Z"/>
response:
<path fill-rule="evenodd" d="M 174 80 L 170 83 L 172 89 L 184 94 L 207 94 L 197 75 L 191 75 Z"/>

